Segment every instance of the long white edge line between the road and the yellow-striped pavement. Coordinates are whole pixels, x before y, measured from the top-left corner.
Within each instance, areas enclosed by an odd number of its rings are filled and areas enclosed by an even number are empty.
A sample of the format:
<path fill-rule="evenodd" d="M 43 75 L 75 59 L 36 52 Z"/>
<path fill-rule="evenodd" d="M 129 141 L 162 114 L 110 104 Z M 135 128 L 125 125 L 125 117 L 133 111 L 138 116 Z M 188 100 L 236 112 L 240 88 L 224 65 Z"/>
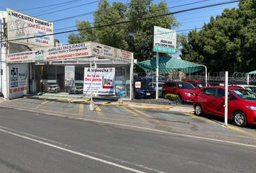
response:
<path fill-rule="evenodd" d="M 0 107 L 8 107 L 8 106 L 0 105 Z M 13 107 L 8 107 L 8 108 L 14 109 Z M 16 107 L 15 110 L 25 110 L 25 109 Z M 38 112 L 38 111 L 35 111 L 35 110 L 25 110 L 25 111 L 36 112 L 36 113 Z M 173 136 L 183 136 L 183 137 L 186 137 L 186 138 L 196 138 L 196 139 L 201 139 L 201 140 L 205 140 L 205 141 L 214 141 L 214 142 L 219 142 L 219 143 L 229 143 L 229 144 L 233 144 L 233 145 L 236 145 L 236 146 L 247 146 L 247 147 L 256 148 L 255 145 L 250 145 L 250 144 L 246 144 L 246 143 L 236 143 L 236 142 L 232 142 L 232 141 L 224 141 L 224 140 L 215 139 L 215 138 L 205 138 L 205 137 L 201 137 L 201 136 L 192 136 L 192 135 L 187 135 L 187 134 L 168 132 L 168 131 L 163 131 L 163 130 L 158 130 L 158 129 L 153 129 L 153 128 L 143 128 L 143 127 L 136 126 L 136 125 L 126 125 L 126 124 L 111 123 L 111 122 L 101 121 L 101 120 L 91 120 L 91 119 L 83 118 L 83 117 L 72 117 L 72 116 L 59 115 L 57 113 L 43 112 L 43 114 L 53 115 L 53 116 L 56 116 L 56 117 L 66 117 L 66 118 L 73 119 L 73 120 L 85 120 L 85 121 L 94 122 L 94 123 L 104 123 L 104 124 L 109 124 L 109 125 L 119 125 L 119 126 L 123 126 L 123 127 L 127 127 L 127 128 L 137 128 L 137 129 L 141 129 L 141 130 L 148 130 L 148 131 L 164 133 L 164 134 L 173 135 Z"/>

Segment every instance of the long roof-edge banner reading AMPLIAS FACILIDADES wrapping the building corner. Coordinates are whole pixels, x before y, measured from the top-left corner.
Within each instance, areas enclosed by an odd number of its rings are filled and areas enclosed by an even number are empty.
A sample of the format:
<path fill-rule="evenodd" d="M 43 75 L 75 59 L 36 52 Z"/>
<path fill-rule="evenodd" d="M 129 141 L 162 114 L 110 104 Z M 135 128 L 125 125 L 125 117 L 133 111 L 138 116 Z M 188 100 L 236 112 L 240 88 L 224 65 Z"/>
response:
<path fill-rule="evenodd" d="M 58 61 L 72 58 L 106 58 L 121 62 L 131 62 L 132 53 L 126 50 L 113 48 L 98 43 L 77 43 L 61 45 L 58 47 L 45 48 L 22 53 L 7 55 L 7 63 L 33 63 L 41 61 Z"/>

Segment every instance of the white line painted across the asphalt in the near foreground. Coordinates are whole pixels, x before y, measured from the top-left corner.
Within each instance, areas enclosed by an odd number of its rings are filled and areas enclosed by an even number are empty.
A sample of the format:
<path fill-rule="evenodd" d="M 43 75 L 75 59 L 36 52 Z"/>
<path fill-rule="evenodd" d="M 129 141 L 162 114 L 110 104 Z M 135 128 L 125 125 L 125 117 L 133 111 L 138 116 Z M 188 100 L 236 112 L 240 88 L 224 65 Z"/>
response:
<path fill-rule="evenodd" d="M 67 152 L 69 152 L 69 153 L 76 154 L 76 155 L 78 155 L 78 156 L 82 156 L 82 157 L 85 157 L 85 158 L 88 158 L 88 159 L 92 159 L 92 160 L 95 160 L 95 161 L 100 161 L 100 162 L 103 162 L 104 164 L 109 164 L 109 165 L 111 165 L 111 166 L 119 167 L 119 168 L 121 168 L 121 169 L 125 169 L 125 170 L 131 171 L 131 172 L 146 173 L 146 172 L 142 172 L 142 171 L 137 170 L 137 169 L 132 169 L 132 168 L 129 168 L 129 167 L 125 167 L 125 166 L 123 166 L 123 165 L 121 165 L 121 164 L 116 164 L 116 163 L 111 162 L 111 161 L 106 161 L 106 160 L 99 159 L 99 158 L 94 157 L 94 156 L 89 156 L 89 155 L 87 155 L 87 154 L 82 154 L 82 153 L 77 152 L 77 151 L 72 151 L 72 150 L 67 149 L 67 148 L 62 148 L 62 147 L 60 147 L 60 146 L 55 146 L 55 145 L 53 145 L 53 144 L 51 144 L 51 143 L 46 143 L 46 142 L 39 141 L 39 140 L 34 139 L 34 138 L 30 138 L 30 137 L 27 137 L 27 136 L 22 136 L 22 135 L 19 135 L 19 134 L 17 134 L 17 133 L 12 133 L 12 132 L 10 132 L 10 131 L 7 131 L 7 130 L 1 129 L 1 128 L 0 128 L 0 131 L 1 131 L 1 132 L 4 132 L 4 133 L 9 133 L 9 134 L 11 134 L 11 135 L 13 135 L 13 136 L 17 136 L 17 137 L 20 137 L 20 138 L 25 138 L 25 139 L 27 139 L 27 140 L 34 141 L 34 142 L 36 142 L 36 143 L 40 143 L 40 144 L 43 144 L 43 145 L 45 145 L 45 146 L 51 146 L 51 147 L 53 147 L 53 148 L 57 148 L 57 149 L 62 150 L 62 151 L 67 151 Z"/>

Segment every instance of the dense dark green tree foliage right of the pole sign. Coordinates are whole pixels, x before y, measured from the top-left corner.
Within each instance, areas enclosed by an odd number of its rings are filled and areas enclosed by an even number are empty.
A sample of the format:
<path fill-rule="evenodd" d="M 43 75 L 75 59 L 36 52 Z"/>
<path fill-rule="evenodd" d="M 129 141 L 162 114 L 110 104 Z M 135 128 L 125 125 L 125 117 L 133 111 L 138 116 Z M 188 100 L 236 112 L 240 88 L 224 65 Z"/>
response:
<path fill-rule="evenodd" d="M 256 0 L 240 1 L 239 8 L 225 9 L 182 37 L 181 58 L 208 66 L 210 71 L 255 70 Z"/>

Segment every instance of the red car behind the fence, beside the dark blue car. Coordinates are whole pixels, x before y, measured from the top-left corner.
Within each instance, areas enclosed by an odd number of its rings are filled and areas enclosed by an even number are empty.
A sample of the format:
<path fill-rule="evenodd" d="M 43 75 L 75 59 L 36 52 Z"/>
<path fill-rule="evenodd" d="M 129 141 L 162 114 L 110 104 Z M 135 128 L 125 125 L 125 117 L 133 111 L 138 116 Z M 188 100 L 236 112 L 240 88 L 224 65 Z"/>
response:
<path fill-rule="evenodd" d="M 195 86 L 186 81 L 166 81 L 163 84 L 163 95 L 176 94 L 179 102 L 193 102 L 197 93 Z"/>

